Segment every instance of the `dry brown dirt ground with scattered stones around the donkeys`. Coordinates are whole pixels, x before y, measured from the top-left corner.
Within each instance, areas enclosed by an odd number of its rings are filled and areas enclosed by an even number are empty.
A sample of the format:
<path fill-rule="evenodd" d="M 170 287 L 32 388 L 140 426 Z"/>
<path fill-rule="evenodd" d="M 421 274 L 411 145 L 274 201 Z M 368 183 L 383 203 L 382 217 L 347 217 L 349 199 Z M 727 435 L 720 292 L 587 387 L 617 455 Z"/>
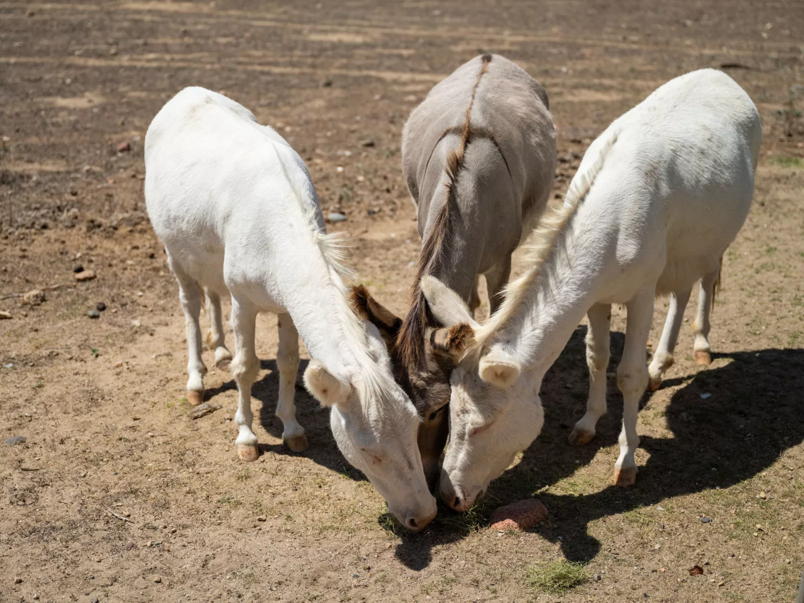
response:
<path fill-rule="evenodd" d="M 13 317 L 0 321 L 0 601 L 792 601 L 804 565 L 802 31 L 798 0 L 0 3 L 0 293 L 68 284 L 40 305 L 0 301 Z M 588 383 L 581 325 L 545 381 L 543 433 L 489 493 L 489 508 L 535 495 L 548 521 L 501 534 L 442 510 L 424 533 L 397 535 L 301 385 L 310 450 L 282 447 L 274 317 L 258 323 L 259 461 L 236 458 L 227 373 L 207 376 L 223 408 L 187 417 L 183 316 L 144 213 L 142 141 L 183 86 L 225 90 L 299 150 L 325 211 L 348 217 L 338 228 L 363 282 L 402 312 L 419 238 L 401 128 L 481 51 L 546 85 L 556 193 L 589 141 L 659 84 L 726 69 L 763 121 L 757 194 L 724 258 L 714 362 L 695 367 L 683 330 L 678 363 L 645 397 L 637 486 L 610 483 L 614 379 L 596 440 L 566 443 Z M 75 283 L 77 265 L 97 278 Z M 107 310 L 88 318 L 99 301 Z M 618 310 L 609 371 L 624 326 Z M 27 441 L 2 444 L 13 436 Z M 563 558 L 600 580 L 531 590 L 527 565 Z"/>

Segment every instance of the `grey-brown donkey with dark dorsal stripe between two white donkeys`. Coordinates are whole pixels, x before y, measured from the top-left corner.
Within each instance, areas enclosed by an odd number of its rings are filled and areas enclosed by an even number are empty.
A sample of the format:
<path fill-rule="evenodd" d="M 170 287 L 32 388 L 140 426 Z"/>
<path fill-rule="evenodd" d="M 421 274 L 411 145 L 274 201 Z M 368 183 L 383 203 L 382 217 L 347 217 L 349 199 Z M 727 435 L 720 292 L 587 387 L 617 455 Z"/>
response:
<path fill-rule="evenodd" d="M 419 282 L 433 275 L 478 307 L 486 277 L 490 310 L 511 273 L 511 253 L 547 205 L 556 133 L 539 82 L 500 55 L 482 55 L 436 84 L 402 134 L 402 170 L 418 209 L 422 248 L 411 307 L 400 320 L 367 289 L 352 306 L 377 326 L 394 375 L 422 418 L 425 474 L 437 470 L 447 437 L 453 355 L 467 330 L 439 329 Z"/>

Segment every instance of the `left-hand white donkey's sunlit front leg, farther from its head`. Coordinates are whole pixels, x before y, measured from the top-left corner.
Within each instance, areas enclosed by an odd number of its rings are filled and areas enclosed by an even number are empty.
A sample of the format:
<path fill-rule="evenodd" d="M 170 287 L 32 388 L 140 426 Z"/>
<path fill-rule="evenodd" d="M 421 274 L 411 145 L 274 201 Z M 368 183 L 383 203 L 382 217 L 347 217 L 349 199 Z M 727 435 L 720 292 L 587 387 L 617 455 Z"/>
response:
<path fill-rule="evenodd" d="M 254 330 L 257 310 L 248 301 L 232 297 L 232 330 L 235 334 L 235 358 L 229 371 L 237 383 L 237 412 L 235 423 L 238 433 L 235 441 L 237 456 L 242 461 L 256 461 L 260 450 L 252 432 L 254 414 L 251 409 L 251 388 L 260 371 L 260 360 L 254 351 Z"/>

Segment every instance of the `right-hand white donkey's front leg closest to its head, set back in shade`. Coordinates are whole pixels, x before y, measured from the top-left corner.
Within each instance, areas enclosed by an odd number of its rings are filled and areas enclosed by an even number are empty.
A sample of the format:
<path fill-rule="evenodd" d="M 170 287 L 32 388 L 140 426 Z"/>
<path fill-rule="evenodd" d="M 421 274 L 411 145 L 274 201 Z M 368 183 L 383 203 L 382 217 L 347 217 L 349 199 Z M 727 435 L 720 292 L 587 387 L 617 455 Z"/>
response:
<path fill-rule="evenodd" d="M 586 331 L 586 366 L 589 367 L 589 400 L 586 413 L 569 434 L 573 446 L 588 444 L 595 437 L 595 425 L 605 415 L 605 372 L 609 367 L 609 328 L 611 304 L 595 304 L 586 313 L 589 330 Z"/>

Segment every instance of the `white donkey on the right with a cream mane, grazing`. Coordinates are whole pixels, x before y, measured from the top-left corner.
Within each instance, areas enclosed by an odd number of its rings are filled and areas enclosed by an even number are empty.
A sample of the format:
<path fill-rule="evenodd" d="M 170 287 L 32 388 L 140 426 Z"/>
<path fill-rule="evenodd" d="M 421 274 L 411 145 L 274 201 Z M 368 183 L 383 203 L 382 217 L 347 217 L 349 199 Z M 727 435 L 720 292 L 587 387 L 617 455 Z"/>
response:
<path fill-rule="evenodd" d="M 619 117 L 589 147 L 563 207 L 545 217 L 530 249 L 531 268 L 509 285 L 483 326 L 460 298 L 425 277 L 433 314 L 467 322 L 473 347 L 453 371 L 449 445 L 441 496 L 469 507 L 539 434 L 539 387 L 584 314 L 589 317 L 589 403 L 571 441 L 589 441 L 606 411 L 609 318 L 628 310 L 617 368 L 624 399 L 614 482 L 635 482 L 639 399 L 649 382 L 646 343 L 654 297 L 671 293 L 662 344 L 651 367 L 667 366 L 691 286 L 703 278 L 697 351 L 708 351 L 708 312 L 720 257 L 748 215 L 762 131 L 749 96 L 722 72 L 671 80 Z"/>

